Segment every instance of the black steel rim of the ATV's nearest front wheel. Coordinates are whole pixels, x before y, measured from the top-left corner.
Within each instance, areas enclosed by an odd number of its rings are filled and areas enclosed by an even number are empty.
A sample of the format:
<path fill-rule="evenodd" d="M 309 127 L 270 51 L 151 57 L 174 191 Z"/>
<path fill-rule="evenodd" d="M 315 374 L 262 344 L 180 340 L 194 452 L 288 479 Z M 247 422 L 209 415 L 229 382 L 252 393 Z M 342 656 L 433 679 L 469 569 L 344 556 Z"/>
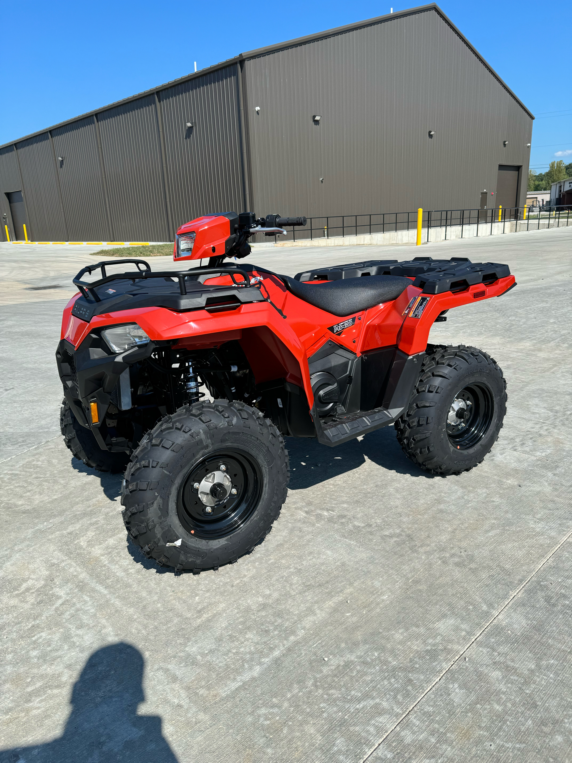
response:
<path fill-rule="evenodd" d="M 211 488 L 212 505 L 205 505 L 195 485 L 204 485 L 210 475 L 220 475 L 220 468 L 230 478 L 228 493 L 225 483 L 215 481 Z M 262 494 L 262 471 L 256 460 L 239 449 L 220 450 L 191 466 L 178 491 L 178 518 L 196 538 L 223 538 L 236 532 L 252 516 Z"/>

